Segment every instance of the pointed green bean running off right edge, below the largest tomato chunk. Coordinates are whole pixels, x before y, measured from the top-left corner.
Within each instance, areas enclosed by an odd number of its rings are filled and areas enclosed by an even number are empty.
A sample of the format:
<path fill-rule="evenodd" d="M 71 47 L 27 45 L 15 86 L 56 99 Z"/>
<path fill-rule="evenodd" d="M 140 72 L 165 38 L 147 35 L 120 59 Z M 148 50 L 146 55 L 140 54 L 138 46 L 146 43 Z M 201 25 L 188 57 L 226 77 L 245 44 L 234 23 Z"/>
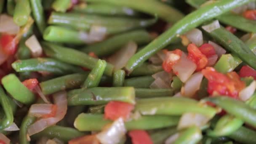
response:
<path fill-rule="evenodd" d="M 223 108 L 230 115 L 240 118 L 245 123 L 256 126 L 256 111 L 242 101 L 229 98 L 227 96 L 217 96 L 206 98 L 217 106 Z"/>

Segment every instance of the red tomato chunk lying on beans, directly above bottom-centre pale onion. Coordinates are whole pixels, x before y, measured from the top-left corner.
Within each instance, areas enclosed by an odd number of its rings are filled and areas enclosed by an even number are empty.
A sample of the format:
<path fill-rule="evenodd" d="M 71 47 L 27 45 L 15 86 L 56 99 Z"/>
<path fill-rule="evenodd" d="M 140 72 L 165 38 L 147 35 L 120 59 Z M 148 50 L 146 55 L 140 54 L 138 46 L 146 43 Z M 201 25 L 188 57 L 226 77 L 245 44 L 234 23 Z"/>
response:
<path fill-rule="evenodd" d="M 116 120 L 122 117 L 124 120 L 129 118 L 131 111 L 134 109 L 133 104 L 121 101 L 110 101 L 104 109 L 104 117 L 110 120 Z"/>

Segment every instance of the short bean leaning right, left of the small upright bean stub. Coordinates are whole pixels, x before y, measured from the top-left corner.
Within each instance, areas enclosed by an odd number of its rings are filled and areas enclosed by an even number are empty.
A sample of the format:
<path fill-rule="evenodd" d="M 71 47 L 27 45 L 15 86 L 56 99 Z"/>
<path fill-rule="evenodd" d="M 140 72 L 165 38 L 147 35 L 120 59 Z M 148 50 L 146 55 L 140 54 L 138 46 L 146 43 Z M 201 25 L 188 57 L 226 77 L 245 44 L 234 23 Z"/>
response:
<path fill-rule="evenodd" d="M 107 66 L 107 62 L 104 60 L 98 60 L 95 67 L 91 70 L 85 82 L 83 88 L 93 88 L 99 85 L 103 72 Z"/>

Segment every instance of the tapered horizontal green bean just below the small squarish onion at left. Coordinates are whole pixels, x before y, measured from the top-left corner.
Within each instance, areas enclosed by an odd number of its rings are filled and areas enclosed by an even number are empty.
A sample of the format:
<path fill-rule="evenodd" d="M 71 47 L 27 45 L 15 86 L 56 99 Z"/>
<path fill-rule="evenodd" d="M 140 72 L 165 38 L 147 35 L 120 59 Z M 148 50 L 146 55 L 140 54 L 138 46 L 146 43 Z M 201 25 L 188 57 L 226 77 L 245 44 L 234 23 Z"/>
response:
<path fill-rule="evenodd" d="M 64 62 L 50 58 L 18 60 L 13 62 L 11 65 L 16 72 L 46 71 L 56 75 L 83 72 L 83 69 L 80 67 L 66 64 Z"/>

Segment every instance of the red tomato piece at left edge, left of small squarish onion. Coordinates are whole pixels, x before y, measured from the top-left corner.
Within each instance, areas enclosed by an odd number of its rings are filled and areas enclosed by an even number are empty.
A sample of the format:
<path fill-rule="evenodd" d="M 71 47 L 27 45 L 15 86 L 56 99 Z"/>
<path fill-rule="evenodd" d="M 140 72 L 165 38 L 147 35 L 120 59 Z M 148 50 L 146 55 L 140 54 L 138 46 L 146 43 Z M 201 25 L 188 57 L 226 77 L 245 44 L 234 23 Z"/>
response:
<path fill-rule="evenodd" d="M 0 37 L 0 46 L 3 48 L 3 52 L 7 55 L 13 55 L 17 51 L 17 43 L 12 35 L 3 34 Z"/>

